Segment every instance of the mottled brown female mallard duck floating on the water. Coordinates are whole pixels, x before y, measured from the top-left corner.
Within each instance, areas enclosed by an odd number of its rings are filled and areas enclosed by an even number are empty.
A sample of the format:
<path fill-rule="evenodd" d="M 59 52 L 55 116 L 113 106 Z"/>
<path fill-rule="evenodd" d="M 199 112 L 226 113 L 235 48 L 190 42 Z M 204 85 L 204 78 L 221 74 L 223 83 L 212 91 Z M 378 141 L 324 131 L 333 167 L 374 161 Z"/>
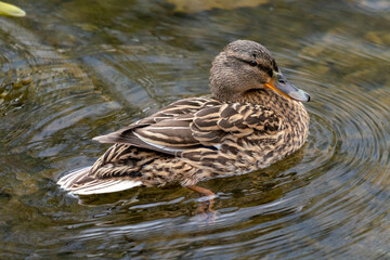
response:
<path fill-rule="evenodd" d="M 214 58 L 211 95 L 180 100 L 119 131 L 94 138 L 114 145 L 92 167 L 60 179 L 79 195 L 134 186 L 195 184 L 264 168 L 300 148 L 310 96 L 283 76 L 261 44 L 237 40 Z"/>

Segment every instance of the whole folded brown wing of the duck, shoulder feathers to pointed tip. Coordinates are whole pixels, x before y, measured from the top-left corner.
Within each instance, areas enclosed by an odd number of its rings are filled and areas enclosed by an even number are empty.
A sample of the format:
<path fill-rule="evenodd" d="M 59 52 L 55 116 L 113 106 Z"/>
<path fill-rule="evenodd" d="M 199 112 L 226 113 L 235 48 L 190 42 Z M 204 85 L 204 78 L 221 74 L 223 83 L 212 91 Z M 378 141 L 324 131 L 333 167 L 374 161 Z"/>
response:
<path fill-rule="evenodd" d="M 273 134 L 280 127 L 280 117 L 264 106 L 194 98 L 176 102 L 151 117 L 94 140 L 180 155 L 199 147 L 217 151 L 226 138 L 243 138 L 253 132 Z"/>

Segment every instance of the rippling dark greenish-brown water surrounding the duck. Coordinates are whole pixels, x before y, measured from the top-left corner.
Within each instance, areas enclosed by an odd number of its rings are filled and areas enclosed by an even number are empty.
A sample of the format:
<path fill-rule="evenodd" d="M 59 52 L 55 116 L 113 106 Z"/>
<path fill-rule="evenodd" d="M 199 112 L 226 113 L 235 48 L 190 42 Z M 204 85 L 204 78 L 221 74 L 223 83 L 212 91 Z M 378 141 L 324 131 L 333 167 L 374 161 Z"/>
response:
<path fill-rule="evenodd" d="M 389 1 L 16 1 L 0 17 L 0 259 L 390 259 Z M 176 8 L 177 6 L 177 8 Z M 82 200 L 56 181 L 114 131 L 208 93 L 230 41 L 314 99 L 308 144 L 259 172 Z"/>

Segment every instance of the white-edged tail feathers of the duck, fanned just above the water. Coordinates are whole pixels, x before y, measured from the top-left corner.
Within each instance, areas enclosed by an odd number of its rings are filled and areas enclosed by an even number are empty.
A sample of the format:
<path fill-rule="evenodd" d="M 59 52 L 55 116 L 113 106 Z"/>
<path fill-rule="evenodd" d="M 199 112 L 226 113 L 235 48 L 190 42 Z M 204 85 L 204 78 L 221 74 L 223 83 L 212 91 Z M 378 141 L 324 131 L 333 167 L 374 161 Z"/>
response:
<path fill-rule="evenodd" d="M 92 167 L 81 168 L 61 178 L 57 184 L 76 195 L 114 193 L 142 185 L 141 181 L 123 178 L 94 179 L 88 176 Z"/>

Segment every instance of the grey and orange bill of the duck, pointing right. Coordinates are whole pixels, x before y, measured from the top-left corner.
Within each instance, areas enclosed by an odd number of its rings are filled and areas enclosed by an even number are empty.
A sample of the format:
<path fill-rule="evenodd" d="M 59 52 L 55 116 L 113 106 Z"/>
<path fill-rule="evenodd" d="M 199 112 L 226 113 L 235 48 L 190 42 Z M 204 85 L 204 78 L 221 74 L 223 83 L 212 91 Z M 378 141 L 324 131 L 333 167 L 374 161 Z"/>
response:
<path fill-rule="evenodd" d="M 300 102 L 310 101 L 310 95 L 307 92 L 291 84 L 281 73 L 278 73 L 270 82 L 264 83 L 264 86 L 288 99 Z"/>

